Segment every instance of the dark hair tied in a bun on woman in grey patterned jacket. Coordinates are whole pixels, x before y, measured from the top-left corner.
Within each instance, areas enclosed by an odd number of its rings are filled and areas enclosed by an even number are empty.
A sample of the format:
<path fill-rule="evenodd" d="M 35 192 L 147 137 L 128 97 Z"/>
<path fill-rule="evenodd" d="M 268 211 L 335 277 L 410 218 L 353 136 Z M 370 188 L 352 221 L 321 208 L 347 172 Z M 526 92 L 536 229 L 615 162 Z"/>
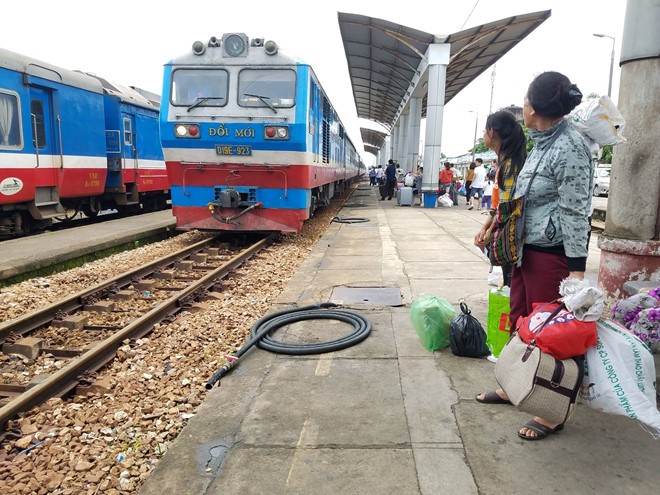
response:
<path fill-rule="evenodd" d="M 527 89 L 527 100 L 543 117 L 563 117 L 582 101 L 582 92 L 564 74 L 544 72 Z"/>

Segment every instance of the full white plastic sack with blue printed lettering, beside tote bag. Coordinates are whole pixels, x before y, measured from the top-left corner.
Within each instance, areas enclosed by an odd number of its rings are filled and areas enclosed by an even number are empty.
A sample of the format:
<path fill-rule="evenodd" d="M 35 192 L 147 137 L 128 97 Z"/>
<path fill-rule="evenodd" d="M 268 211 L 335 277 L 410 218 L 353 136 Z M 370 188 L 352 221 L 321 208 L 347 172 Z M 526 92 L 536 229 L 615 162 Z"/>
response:
<path fill-rule="evenodd" d="M 644 430 L 660 439 L 651 351 L 614 321 L 596 325 L 598 342 L 587 350 L 580 397 L 597 411 L 641 421 Z"/>

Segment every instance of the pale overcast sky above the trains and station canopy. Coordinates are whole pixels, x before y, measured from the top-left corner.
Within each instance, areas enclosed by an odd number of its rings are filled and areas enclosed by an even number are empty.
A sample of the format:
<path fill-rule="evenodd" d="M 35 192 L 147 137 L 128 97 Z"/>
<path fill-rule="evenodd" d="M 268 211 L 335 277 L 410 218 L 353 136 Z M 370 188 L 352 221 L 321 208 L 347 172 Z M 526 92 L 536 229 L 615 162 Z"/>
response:
<path fill-rule="evenodd" d="M 349 136 L 371 164 L 373 155 L 360 146 L 360 127 L 378 126 L 357 118 L 338 12 L 442 36 L 552 10 L 547 21 L 496 64 L 494 84 L 488 69 L 446 105 L 442 151 L 453 157 L 472 147 L 475 123 L 481 137 L 491 110 L 522 106 L 529 83 L 541 72 L 562 72 L 585 95 L 607 94 L 612 40 L 593 33 L 615 38 L 616 103 L 625 7 L 625 0 L 31 0 L 3 3 L 0 47 L 161 94 L 163 65 L 187 53 L 196 40 L 206 42 L 228 32 L 272 39 L 312 66 Z"/>

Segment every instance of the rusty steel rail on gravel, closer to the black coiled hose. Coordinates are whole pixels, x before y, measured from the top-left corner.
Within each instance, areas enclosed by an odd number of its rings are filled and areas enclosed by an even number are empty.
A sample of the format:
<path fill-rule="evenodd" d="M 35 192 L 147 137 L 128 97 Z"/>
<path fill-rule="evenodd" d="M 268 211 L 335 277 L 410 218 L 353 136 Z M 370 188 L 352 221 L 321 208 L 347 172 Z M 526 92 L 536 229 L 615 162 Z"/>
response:
<path fill-rule="evenodd" d="M 69 365 L 46 378 L 40 384 L 12 399 L 11 402 L 0 408 L 0 431 L 3 431 L 6 428 L 7 422 L 13 419 L 19 412 L 26 411 L 33 406 L 41 404 L 51 397 L 64 395 L 73 389 L 76 386 L 77 377 L 85 372 L 95 371 L 112 360 L 124 340 L 140 338 L 149 333 L 156 323 L 181 311 L 181 302 L 183 300 L 194 297 L 195 293 L 211 287 L 218 279 L 226 277 L 232 270 L 239 267 L 264 246 L 269 244 L 273 238 L 274 236 L 271 235 L 245 249 L 222 266 L 204 275 L 194 284 L 177 292 L 170 299 L 160 303 L 148 313 L 132 321 L 123 330 L 100 342 L 85 354 L 76 358 Z M 199 244 L 196 244 L 196 246 Z"/>

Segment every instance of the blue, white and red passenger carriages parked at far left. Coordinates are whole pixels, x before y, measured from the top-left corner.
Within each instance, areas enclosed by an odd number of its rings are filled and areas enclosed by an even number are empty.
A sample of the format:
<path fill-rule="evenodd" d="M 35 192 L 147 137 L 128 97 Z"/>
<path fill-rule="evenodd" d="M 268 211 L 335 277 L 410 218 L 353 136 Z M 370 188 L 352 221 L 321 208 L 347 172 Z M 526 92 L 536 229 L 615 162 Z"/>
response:
<path fill-rule="evenodd" d="M 169 208 L 159 99 L 0 49 L 0 235 Z"/>

